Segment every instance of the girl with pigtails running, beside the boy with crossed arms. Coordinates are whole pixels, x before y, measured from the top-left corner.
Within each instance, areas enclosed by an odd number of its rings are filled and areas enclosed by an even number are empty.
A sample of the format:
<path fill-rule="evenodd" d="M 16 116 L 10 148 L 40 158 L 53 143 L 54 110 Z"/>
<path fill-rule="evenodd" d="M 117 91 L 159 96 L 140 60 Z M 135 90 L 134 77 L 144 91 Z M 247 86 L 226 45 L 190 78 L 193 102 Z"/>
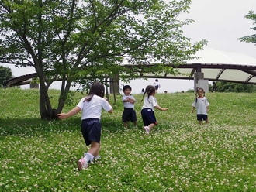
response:
<path fill-rule="evenodd" d="M 147 97 L 144 98 L 146 93 L 147 93 Z M 142 109 L 141 109 L 141 116 L 144 122 L 144 130 L 147 135 L 150 133 L 150 129 L 153 129 L 154 126 L 157 125 L 157 119 L 154 115 L 154 108 L 157 108 L 158 110 L 161 110 L 161 111 L 168 110 L 168 108 L 161 108 L 157 104 L 157 99 L 154 97 L 155 94 L 156 94 L 155 87 L 153 85 L 148 85 L 143 95 L 144 105 L 142 106 Z M 141 101 L 143 101 L 143 99 Z"/>

